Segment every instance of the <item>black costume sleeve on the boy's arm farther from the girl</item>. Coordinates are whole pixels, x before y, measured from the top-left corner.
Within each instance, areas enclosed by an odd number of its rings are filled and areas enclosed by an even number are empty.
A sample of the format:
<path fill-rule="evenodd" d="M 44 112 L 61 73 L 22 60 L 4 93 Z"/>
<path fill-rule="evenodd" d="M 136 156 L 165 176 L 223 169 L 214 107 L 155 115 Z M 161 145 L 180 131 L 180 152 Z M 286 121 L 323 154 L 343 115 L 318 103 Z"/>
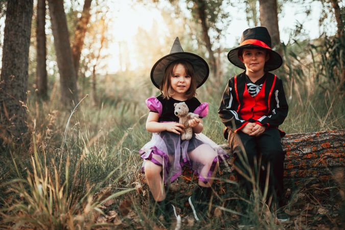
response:
<path fill-rule="evenodd" d="M 289 109 L 281 79 L 277 78 L 270 100 L 270 112 L 259 119 L 259 122 L 265 126 L 278 127 L 284 122 Z"/>

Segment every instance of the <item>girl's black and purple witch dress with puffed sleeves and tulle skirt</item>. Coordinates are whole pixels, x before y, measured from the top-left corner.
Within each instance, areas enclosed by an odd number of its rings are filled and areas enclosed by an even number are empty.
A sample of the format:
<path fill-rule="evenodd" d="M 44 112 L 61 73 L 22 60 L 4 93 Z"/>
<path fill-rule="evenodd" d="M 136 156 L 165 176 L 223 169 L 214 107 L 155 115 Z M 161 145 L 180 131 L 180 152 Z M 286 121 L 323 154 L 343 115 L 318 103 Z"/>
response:
<path fill-rule="evenodd" d="M 150 111 L 159 113 L 158 122 L 178 122 L 179 118 L 174 114 L 174 103 L 179 102 L 182 101 L 173 98 L 167 100 L 163 98 L 163 95 L 160 95 L 156 98 L 148 98 L 146 100 L 146 105 Z M 207 116 L 209 110 L 208 103 L 200 103 L 195 97 L 183 102 L 187 104 L 189 112 L 198 114 L 200 118 Z M 201 181 L 207 183 L 208 179 L 200 175 L 204 165 L 190 158 L 189 153 L 203 144 L 209 145 L 215 150 L 217 156 L 213 159 L 208 177 L 211 177 L 217 162 L 222 161 L 224 157 L 228 157 L 228 155 L 215 142 L 202 133 L 193 133 L 191 140 L 181 141 L 180 137 L 179 134 L 169 131 L 153 133 L 151 141 L 139 151 L 141 158 L 151 160 L 154 164 L 163 167 L 163 179 L 165 184 L 174 181 L 182 174 L 183 165 L 187 165 Z M 200 154 L 202 154 L 202 149 Z M 145 161 L 142 166 L 143 172 L 144 166 Z"/>

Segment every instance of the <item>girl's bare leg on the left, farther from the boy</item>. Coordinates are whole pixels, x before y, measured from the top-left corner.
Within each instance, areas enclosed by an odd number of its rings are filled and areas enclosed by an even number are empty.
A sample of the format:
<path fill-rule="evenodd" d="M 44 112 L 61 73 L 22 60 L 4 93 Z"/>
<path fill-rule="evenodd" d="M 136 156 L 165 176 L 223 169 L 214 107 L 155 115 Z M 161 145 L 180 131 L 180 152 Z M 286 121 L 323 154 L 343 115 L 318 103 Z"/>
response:
<path fill-rule="evenodd" d="M 156 165 L 150 160 L 145 160 L 145 176 L 147 185 L 149 186 L 152 196 L 155 201 L 162 201 L 165 199 L 165 190 L 163 178 L 160 176 L 162 166 Z"/>

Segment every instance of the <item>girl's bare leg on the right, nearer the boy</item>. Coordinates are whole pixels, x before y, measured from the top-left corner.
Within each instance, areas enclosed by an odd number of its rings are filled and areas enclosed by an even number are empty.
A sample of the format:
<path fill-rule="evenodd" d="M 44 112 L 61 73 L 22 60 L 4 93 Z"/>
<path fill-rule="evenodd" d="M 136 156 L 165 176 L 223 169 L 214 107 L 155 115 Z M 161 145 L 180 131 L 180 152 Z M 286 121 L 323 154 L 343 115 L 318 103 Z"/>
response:
<path fill-rule="evenodd" d="M 193 161 L 200 162 L 204 167 L 201 169 L 200 175 L 203 178 L 208 178 L 208 173 L 213 163 L 213 159 L 217 156 L 217 153 L 209 145 L 200 145 L 190 152 L 189 157 Z M 218 163 L 211 175 L 214 177 L 217 173 Z M 208 183 L 204 183 L 202 180 L 198 181 L 198 185 L 201 187 L 211 187 L 213 179 L 210 179 Z"/>

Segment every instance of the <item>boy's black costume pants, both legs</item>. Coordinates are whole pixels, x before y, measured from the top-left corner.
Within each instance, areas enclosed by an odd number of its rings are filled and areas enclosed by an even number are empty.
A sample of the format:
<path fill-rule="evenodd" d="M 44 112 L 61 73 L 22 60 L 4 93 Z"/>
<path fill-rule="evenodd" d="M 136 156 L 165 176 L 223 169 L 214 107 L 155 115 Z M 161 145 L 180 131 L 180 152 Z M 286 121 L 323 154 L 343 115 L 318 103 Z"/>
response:
<path fill-rule="evenodd" d="M 229 146 L 234 153 L 237 154 L 235 158 L 235 165 L 242 170 L 246 175 L 248 171 L 245 169 L 244 164 L 249 164 L 250 168 L 255 172 L 257 167 L 259 175 L 255 175 L 256 180 L 259 179 L 259 188 L 264 193 L 267 167 L 270 163 L 269 181 L 268 181 L 268 194 L 267 198 L 272 196 L 273 202 L 278 206 L 284 205 L 284 184 L 283 184 L 283 171 L 284 171 L 284 158 L 281 137 L 279 130 L 276 128 L 267 128 L 266 131 L 258 136 L 249 136 L 248 134 L 238 131 L 237 134 L 229 132 L 228 136 Z M 241 145 L 241 143 L 243 145 Z M 244 152 L 247 156 L 244 156 Z M 243 156 L 244 161 L 240 160 L 238 154 Z M 255 159 L 256 158 L 256 166 Z M 260 163 L 261 158 L 261 163 Z M 247 195 L 252 191 L 252 183 L 246 180 L 240 173 L 238 173 L 240 185 L 244 186 Z"/>

